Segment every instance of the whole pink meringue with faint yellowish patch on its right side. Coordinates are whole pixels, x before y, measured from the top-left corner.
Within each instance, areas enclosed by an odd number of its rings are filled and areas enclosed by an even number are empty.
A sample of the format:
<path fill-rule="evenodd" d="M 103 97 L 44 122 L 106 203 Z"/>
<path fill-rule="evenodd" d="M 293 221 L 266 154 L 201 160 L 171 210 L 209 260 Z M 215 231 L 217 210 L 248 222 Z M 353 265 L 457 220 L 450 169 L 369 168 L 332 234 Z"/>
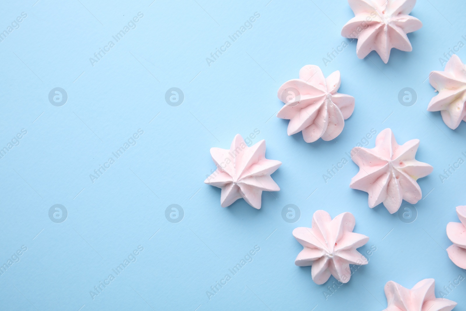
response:
<path fill-rule="evenodd" d="M 359 172 L 349 187 L 369 194 L 369 207 L 380 203 L 390 214 L 397 212 L 403 200 L 415 204 L 422 198 L 418 178 L 432 173 L 433 167 L 414 159 L 419 139 L 398 145 L 391 129 L 381 131 L 375 148 L 354 147 L 351 159 Z"/>

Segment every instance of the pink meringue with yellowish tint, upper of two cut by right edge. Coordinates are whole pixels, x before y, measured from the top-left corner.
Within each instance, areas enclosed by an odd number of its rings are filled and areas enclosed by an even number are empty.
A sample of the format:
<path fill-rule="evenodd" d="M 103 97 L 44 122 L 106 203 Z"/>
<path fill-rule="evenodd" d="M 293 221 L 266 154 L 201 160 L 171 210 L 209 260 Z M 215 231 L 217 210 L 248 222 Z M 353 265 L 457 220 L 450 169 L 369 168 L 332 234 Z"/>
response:
<path fill-rule="evenodd" d="M 429 82 L 439 91 L 427 111 L 440 111 L 445 124 L 456 129 L 461 120 L 466 121 L 466 66 L 454 54 L 446 63 L 445 71 L 432 71 Z"/>

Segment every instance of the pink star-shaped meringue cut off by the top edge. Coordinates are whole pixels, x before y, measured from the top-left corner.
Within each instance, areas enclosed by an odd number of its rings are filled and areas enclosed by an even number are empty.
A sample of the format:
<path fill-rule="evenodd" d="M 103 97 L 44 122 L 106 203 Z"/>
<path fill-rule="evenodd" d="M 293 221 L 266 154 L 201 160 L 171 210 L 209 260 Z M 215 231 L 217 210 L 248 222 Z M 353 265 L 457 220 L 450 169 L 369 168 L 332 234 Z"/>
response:
<path fill-rule="evenodd" d="M 356 55 L 363 59 L 376 51 L 384 63 L 391 48 L 412 51 L 406 34 L 422 27 L 422 22 L 409 15 L 416 0 L 348 0 L 355 17 L 342 29 L 342 36 L 356 39 Z"/>

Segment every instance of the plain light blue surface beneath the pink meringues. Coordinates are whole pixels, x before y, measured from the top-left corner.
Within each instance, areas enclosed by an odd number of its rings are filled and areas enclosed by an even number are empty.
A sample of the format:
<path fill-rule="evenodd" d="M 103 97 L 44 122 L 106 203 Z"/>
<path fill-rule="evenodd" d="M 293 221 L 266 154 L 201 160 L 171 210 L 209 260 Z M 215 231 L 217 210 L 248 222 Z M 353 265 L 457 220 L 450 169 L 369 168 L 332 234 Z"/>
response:
<path fill-rule="evenodd" d="M 355 41 L 327 66 L 322 58 L 349 41 L 340 35 L 354 16 L 344 0 L 35 1 L 0 5 L 1 31 L 27 14 L 0 42 L 1 147 L 27 130 L 0 159 L 0 262 L 27 247 L 0 276 L 1 310 L 383 310 L 387 281 L 411 288 L 432 277 L 439 296 L 466 276 L 445 252 L 445 226 L 466 204 L 466 164 L 439 179 L 465 159 L 466 124 L 452 131 L 439 112 L 426 111 L 436 93 L 425 81 L 443 70 L 439 57 L 466 43 L 463 1 L 419 0 L 412 15 L 424 26 L 408 35 L 413 51 L 392 50 L 388 64 L 374 52 L 359 60 Z M 93 67 L 89 57 L 138 12 L 137 27 Z M 254 12 L 253 28 L 209 67 L 206 57 Z M 466 61 L 466 48 L 458 55 Z M 356 98 L 336 141 L 288 137 L 288 121 L 274 116 L 283 105 L 278 88 L 306 64 L 325 76 L 340 70 L 340 92 Z M 68 93 L 62 107 L 48 101 L 55 87 Z M 171 87 L 185 94 L 178 107 L 164 100 Z M 418 95 L 411 107 L 397 99 L 405 87 Z M 418 181 L 424 197 L 432 192 L 415 205 L 412 223 L 383 206 L 370 209 L 367 194 L 349 188 L 358 171 L 351 161 L 322 179 L 366 133 L 387 127 L 400 144 L 419 138 L 417 159 L 434 167 Z M 89 174 L 138 129 L 137 145 L 92 183 Z M 283 162 L 272 175 L 281 191 L 264 192 L 260 210 L 244 200 L 221 208 L 220 190 L 203 183 L 214 168 L 209 149 L 254 129 L 267 158 Z M 54 204 L 67 208 L 66 221 L 49 219 Z M 184 209 L 181 222 L 165 218 L 170 204 Z M 287 204 L 301 209 L 296 223 L 281 218 Z M 334 278 L 316 285 L 311 267 L 295 266 L 302 246 L 291 234 L 310 226 L 318 209 L 353 213 L 355 232 L 370 237 L 360 251 L 377 247 L 327 300 Z M 93 300 L 89 291 L 138 245 L 137 261 Z M 206 290 L 255 245 L 254 261 L 209 300 Z M 463 281 L 447 296 L 455 310 L 466 310 L 465 293 Z"/>

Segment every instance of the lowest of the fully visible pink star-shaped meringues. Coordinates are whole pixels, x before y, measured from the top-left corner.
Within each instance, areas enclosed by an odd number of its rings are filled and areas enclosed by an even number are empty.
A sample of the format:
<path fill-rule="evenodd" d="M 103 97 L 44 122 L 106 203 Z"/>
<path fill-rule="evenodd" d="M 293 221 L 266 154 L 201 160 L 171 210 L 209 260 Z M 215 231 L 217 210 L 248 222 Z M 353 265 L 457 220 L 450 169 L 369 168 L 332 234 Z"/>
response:
<path fill-rule="evenodd" d="M 351 277 L 349 264 L 367 264 L 366 257 L 356 249 L 369 241 L 369 237 L 354 233 L 355 219 L 343 213 L 333 220 L 326 211 L 316 211 L 312 228 L 293 230 L 296 240 L 304 247 L 295 260 L 297 266 L 311 266 L 312 280 L 317 284 L 327 282 L 330 275 L 347 283 Z"/>

